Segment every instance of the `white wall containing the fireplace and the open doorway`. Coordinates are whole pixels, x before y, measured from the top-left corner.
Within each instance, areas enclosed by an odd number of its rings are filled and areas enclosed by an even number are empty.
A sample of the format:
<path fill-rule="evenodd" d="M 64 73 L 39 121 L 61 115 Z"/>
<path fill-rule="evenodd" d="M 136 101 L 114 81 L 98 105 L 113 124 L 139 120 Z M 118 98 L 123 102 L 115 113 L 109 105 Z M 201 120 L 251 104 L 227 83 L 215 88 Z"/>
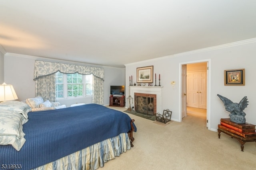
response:
<path fill-rule="evenodd" d="M 178 55 L 166 56 L 158 59 L 143 61 L 139 63 L 125 64 L 126 66 L 126 86 L 129 85 L 129 76 L 136 80 L 136 68 L 143 66 L 154 66 L 154 74 L 161 74 L 162 88 L 162 109 L 172 111 L 172 119 L 179 120 L 179 73 L 180 63 L 191 63 L 193 61 L 210 60 L 210 92 L 208 102 L 208 115 L 210 115 L 209 129 L 216 131 L 220 118 L 228 118 L 229 112 L 225 110 L 217 94 L 229 98 L 233 102 L 239 103 L 244 97 L 248 97 L 249 105 L 244 112 L 246 113 L 246 122 L 256 124 L 256 72 L 255 56 L 256 39 L 240 41 L 228 45 L 221 45 L 198 51 L 191 51 Z M 224 86 L 224 70 L 245 68 L 245 86 Z M 157 77 L 158 79 L 158 77 Z M 174 88 L 170 85 L 175 81 Z M 154 82 L 155 84 L 155 82 Z M 157 80 L 158 84 L 158 80 Z M 128 94 L 128 88 L 126 88 Z"/>

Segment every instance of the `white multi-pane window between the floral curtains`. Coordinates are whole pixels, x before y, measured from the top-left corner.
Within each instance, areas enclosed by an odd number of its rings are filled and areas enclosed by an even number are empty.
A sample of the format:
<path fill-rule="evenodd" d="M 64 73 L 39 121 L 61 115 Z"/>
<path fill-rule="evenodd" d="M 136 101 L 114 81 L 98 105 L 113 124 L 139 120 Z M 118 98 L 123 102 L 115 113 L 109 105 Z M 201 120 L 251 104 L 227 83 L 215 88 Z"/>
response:
<path fill-rule="evenodd" d="M 56 72 L 56 98 L 72 98 L 92 95 L 92 74 L 65 74 Z M 85 87 L 85 88 L 84 88 Z"/>

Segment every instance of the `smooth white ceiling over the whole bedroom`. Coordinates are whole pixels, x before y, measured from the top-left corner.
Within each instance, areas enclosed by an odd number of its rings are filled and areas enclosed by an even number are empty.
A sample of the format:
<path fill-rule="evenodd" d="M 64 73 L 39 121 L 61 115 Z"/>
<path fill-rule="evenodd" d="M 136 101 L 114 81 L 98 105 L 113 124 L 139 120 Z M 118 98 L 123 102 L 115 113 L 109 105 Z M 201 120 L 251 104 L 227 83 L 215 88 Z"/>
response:
<path fill-rule="evenodd" d="M 256 0 L 0 0 L 7 53 L 124 64 L 256 37 Z"/>

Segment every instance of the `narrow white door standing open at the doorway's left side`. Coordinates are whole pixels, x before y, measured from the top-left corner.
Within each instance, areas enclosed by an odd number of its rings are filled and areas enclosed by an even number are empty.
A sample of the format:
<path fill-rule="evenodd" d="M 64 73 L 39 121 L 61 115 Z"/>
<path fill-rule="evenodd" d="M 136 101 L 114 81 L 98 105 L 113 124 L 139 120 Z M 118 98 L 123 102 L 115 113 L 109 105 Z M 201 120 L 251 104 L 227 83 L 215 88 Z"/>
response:
<path fill-rule="evenodd" d="M 181 118 L 183 117 L 186 117 L 187 116 L 187 97 L 186 97 L 186 91 L 187 91 L 187 88 L 186 88 L 186 81 L 187 81 L 187 78 L 186 78 L 186 72 L 187 72 L 187 66 L 186 65 L 182 65 L 182 93 L 181 93 L 181 100 L 182 100 L 182 110 L 181 110 Z"/>

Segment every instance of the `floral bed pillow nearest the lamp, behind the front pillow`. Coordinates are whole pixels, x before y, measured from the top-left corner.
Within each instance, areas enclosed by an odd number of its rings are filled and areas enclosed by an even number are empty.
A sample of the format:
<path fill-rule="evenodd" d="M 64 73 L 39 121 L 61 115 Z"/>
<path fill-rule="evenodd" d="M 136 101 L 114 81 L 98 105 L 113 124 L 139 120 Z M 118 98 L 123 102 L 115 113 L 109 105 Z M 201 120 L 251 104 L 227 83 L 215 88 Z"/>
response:
<path fill-rule="evenodd" d="M 24 102 L 13 100 L 0 103 L 0 110 L 14 110 L 21 113 L 26 119 L 28 119 L 28 112 L 31 111 L 31 107 Z"/>

